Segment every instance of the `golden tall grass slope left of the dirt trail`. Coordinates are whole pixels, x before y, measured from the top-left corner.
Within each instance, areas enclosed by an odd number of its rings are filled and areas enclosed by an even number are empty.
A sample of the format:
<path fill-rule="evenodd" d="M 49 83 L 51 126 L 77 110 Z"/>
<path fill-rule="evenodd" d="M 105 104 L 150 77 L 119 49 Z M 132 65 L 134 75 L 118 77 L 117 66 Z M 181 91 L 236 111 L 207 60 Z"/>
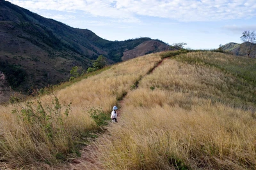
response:
<path fill-rule="evenodd" d="M 157 54 L 128 60 L 53 94 L 0 106 L 0 167 L 44 167 L 77 154 L 98 128 L 90 110 L 110 116 L 113 105 L 159 60 Z"/>

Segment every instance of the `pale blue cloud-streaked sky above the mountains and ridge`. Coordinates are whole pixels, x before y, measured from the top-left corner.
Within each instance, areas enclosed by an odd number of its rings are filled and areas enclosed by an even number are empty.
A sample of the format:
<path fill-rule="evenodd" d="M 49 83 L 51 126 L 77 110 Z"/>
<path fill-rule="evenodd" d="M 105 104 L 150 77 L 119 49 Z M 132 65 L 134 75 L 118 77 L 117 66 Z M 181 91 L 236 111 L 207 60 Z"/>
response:
<path fill-rule="evenodd" d="M 256 30 L 255 0 L 9 0 L 108 40 L 149 37 L 186 48 L 242 43 Z"/>

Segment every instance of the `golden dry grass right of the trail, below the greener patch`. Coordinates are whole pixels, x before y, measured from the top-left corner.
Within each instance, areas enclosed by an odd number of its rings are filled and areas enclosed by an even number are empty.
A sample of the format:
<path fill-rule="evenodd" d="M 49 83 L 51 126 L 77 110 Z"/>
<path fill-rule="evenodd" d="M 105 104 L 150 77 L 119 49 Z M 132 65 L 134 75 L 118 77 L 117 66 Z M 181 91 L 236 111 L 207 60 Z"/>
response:
<path fill-rule="evenodd" d="M 255 169 L 253 90 L 216 67 L 164 60 L 128 92 L 95 155 L 105 169 Z"/>

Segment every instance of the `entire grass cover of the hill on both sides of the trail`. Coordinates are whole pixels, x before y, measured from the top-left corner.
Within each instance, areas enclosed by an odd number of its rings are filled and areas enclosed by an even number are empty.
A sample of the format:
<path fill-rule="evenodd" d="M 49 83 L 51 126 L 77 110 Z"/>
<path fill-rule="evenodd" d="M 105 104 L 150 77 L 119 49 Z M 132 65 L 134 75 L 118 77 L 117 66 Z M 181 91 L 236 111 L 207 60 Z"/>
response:
<path fill-rule="evenodd" d="M 117 105 L 118 124 L 104 127 L 90 151 L 99 169 L 255 169 L 256 60 L 218 52 L 163 59 L 173 53 L 1 106 L 0 167 L 50 169 L 75 157 L 101 129 L 95 120 Z"/>

